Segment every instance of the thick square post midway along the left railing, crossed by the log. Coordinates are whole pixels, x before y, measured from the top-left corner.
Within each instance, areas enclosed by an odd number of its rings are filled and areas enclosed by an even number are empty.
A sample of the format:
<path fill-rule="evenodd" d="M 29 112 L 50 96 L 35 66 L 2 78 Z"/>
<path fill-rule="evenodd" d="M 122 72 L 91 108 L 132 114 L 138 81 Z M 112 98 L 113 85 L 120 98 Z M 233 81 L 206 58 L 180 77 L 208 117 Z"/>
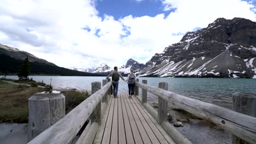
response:
<path fill-rule="evenodd" d="M 92 82 L 91 83 L 91 94 L 94 94 L 101 89 L 101 82 Z M 96 106 L 94 112 L 91 114 L 91 122 L 97 122 L 98 125 L 101 125 L 101 101 Z"/>

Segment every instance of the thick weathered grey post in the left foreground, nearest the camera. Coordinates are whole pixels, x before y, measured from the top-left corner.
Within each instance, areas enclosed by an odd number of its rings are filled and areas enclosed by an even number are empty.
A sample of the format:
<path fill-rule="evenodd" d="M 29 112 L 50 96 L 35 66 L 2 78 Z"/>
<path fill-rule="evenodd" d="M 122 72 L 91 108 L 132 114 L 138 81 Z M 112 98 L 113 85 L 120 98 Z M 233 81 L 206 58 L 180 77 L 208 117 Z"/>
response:
<path fill-rule="evenodd" d="M 28 141 L 65 116 L 65 96 L 36 94 L 28 99 Z"/>

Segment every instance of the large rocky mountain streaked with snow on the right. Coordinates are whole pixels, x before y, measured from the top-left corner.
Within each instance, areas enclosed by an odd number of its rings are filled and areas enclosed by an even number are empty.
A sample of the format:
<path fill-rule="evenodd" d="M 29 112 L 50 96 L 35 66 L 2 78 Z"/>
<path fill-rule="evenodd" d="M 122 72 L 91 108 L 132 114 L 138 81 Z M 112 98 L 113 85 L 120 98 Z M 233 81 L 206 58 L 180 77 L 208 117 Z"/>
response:
<path fill-rule="evenodd" d="M 256 78 L 256 22 L 219 18 L 156 53 L 140 76 Z"/>

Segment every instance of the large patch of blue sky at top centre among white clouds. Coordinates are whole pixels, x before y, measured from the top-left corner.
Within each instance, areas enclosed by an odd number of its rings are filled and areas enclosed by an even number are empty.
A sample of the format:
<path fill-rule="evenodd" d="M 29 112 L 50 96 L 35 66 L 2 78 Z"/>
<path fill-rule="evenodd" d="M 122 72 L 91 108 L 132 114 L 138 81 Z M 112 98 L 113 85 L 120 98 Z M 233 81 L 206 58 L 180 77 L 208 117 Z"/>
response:
<path fill-rule="evenodd" d="M 133 17 L 145 15 L 154 17 L 158 14 L 165 14 L 166 17 L 175 10 L 164 11 L 162 2 L 157 0 L 144 0 L 141 2 L 136 2 L 135 0 L 98 0 L 95 7 L 102 19 L 104 19 L 104 14 L 107 14 L 112 15 L 115 20 L 129 15 Z"/>

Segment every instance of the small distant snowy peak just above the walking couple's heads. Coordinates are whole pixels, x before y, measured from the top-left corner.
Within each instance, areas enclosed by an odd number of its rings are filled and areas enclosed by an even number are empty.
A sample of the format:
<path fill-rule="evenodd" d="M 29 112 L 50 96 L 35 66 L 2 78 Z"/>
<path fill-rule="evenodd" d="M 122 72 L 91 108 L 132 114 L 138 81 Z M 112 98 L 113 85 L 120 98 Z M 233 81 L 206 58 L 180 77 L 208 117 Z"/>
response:
<path fill-rule="evenodd" d="M 128 74 L 130 73 L 130 69 L 133 69 L 135 72 L 142 70 L 145 67 L 145 64 L 139 63 L 134 59 L 130 58 L 125 65 L 122 65 L 118 71 Z"/>

